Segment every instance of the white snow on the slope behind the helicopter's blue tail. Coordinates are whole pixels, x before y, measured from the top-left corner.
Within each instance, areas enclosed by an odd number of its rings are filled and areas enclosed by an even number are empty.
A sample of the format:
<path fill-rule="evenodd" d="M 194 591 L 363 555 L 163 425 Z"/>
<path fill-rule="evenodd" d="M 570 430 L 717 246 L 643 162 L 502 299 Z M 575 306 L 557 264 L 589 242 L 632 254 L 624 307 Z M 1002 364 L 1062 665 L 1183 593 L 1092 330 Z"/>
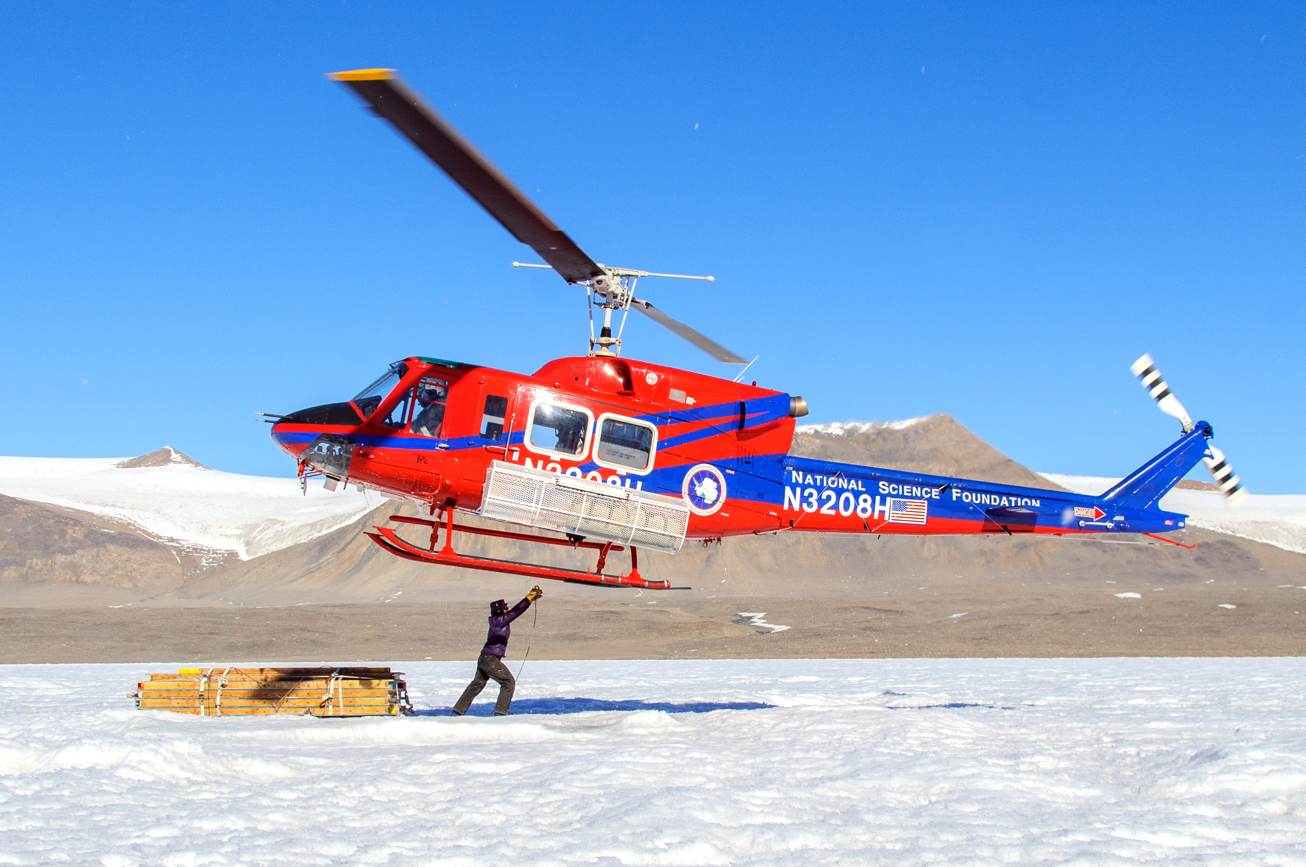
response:
<path fill-rule="evenodd" d="M 1119 482 L 1101 475 L 1040 475 L 1068 491 L 1093 496 Z M 1161 508 L 1187 514 L 1188 526 L 1306 554 L 1306 496 L 1301 494 L 1252 494 L 1242 505 L 1230 509 L 1218 491 L 1175 488 L 1161 499 Z"/>

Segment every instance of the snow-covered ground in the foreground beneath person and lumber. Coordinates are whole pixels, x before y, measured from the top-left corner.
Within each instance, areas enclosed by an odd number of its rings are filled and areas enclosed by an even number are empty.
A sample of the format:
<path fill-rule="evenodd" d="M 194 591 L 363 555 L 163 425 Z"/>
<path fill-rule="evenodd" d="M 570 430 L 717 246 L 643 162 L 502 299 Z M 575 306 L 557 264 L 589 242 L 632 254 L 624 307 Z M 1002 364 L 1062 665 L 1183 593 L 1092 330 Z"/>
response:
<path fill-rule="evenodd" d="M 0 667 L 0 863 L 1306 864 L 1298 659 L 529 662 L 461 719 L 473 663 L 426 662 L 430 716 L 132 710 L 170 667 Z"/>

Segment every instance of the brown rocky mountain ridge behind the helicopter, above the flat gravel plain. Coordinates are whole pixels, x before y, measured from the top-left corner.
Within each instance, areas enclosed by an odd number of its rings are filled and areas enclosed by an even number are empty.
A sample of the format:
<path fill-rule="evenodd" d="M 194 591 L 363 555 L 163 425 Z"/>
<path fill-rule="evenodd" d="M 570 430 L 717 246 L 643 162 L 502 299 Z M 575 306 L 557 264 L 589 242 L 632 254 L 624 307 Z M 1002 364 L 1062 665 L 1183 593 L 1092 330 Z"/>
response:
<path fill-rule="evenodd" d="M 803 426 L 794 454 L 959 475 L 1028 487 L 1055 488 L 948 415 L 893 423 Z M 137 466 L 199 462 L 175 449 L 136 458 Z M 206 469 L 206 467 L 205 467 Z M 364 531 L 390 513 L 417 516 L 411 503 L 384 503 L 363 520 L 247 560 L 188 561 L 168 539 L 106 522 L 102 517 L 13 497 L 0 499 L 0 585 L 21 590 L 27 605 L 81 605 L 97 593 L 137 603 L 296 605 L 482 598 L 516 593 L 521 578 L 432 567 L 394 558 Z M 478 522 L 460 516 L 460 522 Z M 409 528 L 405 534 L 418 539 Z M 1306 556 L 1218 533 L 1190 530 L 1195 551 L 1148 539 L 1063 539 L 1055 537 L 871 537 L 767 534 L 704 546 L 690 542 L 675 556 L 645 556 L 641 572 L 693 588 L 682 595 L 721 593 L 754 597 L 866 593 L 885 582 L 1000 577 L 1029 581 L 1098 581 L 1102 575 L 1145 576 L 1169 582 L 1209 575 L 1266 572 L 1306 575 Z M 569 568 L 592 568 L 585 552 L 462 534 L 460 550 L 485 556 Z M 613 554 L 607 571 L 626 569 Z M 1293 580 L 1297 580 L 1296 577 Z M 564 586 L 564 593 L 603 589 Z M 89 595 L 88 595 L 89 594 Z"/>

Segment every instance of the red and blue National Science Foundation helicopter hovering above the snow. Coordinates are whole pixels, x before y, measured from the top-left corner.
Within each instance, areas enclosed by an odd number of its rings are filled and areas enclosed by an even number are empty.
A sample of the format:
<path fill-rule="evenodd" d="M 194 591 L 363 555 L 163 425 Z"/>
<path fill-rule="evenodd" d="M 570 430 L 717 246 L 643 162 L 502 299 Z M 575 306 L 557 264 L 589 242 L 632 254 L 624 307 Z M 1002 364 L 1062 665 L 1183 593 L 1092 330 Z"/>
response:
<path fill-rule="evenodd" d="M 1162 496 L 1199 461 L 1230 505 L 1247 496 L 1215 431 L 1194 422 L 1151 355 L 1132 372 L 1158 407 L 1177 418 L 1178 440 L 1100 496 L 1017 487 L 789 454 L 806 401 L 788 392 L 641 362 L 622 355 L 629 311 L 671 329 L 714 359 L 735 353 L 636 298 L 641 278 L 712 281 L 596 262 L 393 69 L 328 76 L 444 170 L 589 308 L 589 351 L 534 373 L 411 355 L 387 367 L 351 400 L 289 415 L 260 414 L 272 439 L 298 462 L 299 478 L 329 490 L 354 484 L 413 500 L 427 518 L 392 514 L 367 535 L 385 551 L 421 563 L 590 585 L 669 589 L 645 580 L 639 550 L 675 554 L 687 541 L 769 533 L 1121 534 L 1186 526 L 1162 511 Z M 596 334 L 594 313 L 601 325 Z M 614 320 L 616 330 L 614 333 Z M 747 367 L 744 367 L 747 370 Z M 306 488 L 307 490 L 307 488 Z M 456 514 L 504 526 L 456 524 Z M 428 530 L 426 543 L 400 535 Z M 530 533 L 524 529 L 533 530 Z M 421 531 L 421 530 L 419 530 Z M 464 554 L 456 533 L 597 552 L 572 569 Z M 545 535 L 541 531 L 554 533 Z M 628 551 L 629 571 L 605 572 Z"/>

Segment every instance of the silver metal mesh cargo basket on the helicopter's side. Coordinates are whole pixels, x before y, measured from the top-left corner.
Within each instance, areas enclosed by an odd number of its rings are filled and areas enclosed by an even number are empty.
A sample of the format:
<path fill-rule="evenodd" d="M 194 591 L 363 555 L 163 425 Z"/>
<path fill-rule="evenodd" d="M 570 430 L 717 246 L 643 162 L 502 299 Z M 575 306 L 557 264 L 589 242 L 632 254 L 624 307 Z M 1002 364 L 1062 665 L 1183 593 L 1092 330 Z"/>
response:
<path fill-rule="evenodd" d="M 675 554 L 690 528 L 683 500 L 494 461 L 482 517 Z"/>

